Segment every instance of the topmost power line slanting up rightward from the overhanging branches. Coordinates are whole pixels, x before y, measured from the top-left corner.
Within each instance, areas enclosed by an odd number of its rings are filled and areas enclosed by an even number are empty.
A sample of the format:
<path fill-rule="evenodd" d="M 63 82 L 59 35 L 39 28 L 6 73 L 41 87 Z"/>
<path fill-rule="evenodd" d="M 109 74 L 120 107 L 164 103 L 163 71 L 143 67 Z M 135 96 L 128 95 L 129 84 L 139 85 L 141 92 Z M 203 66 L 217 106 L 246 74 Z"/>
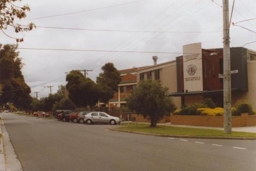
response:
<path fill-rule="evenodd" d="M 140 0 L 140 1 L 145 1 L 145 0 Z M 49 16 L 41 16 L 41 17 L 38 17 L 38 18 L 31 18 L 31 19 L 26 19 L 26 20 L 38 20 L 38 19 L 52 18 L 52 17 L 55 17 L 55 16 L 64 16 L 64 15 L 77 14 L 77 13 L 83 13 L 83 12 L 89 12 L 89 11 L 102 10 L 102 9 L 105 9 L 105 8 L 111 8 L 111 7 L 116 7 L 116 6 L 138 3 L 140 1 L 133 1 L 133 2 L 129 2 L 129 3 L 116 4 L 116 5 L 110 5 L 110 6 L 105 6 L 105 7 L 99 7 L 99 8 L 92 8 L 92 9 L 89 9 L 89 10 L 82 10 L 82 11 L 76 11 L 76 12 L 70 12 L 70 13 L 55 14 L 55 15 L 49 15 Z M 21 20 L 21 21 L 26 21 L 26 20 Z"/>

